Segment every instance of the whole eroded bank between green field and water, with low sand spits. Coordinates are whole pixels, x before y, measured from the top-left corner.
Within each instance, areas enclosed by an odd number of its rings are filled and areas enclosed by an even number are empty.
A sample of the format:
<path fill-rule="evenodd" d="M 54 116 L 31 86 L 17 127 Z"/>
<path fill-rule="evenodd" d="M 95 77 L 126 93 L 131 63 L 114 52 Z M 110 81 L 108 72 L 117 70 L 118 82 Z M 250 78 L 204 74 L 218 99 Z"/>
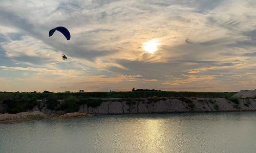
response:
<path fill-rule="evenodd" d="M 50 103 L 51 102 L 51 103 Z M 74 101 L 73 101 L 74 102 Z M 70 118 L 91 115 L 106 114 L 155 114 L 155 113 L 194 113 L 194 112 L 234 112 L 256 111 L 256 99 L 254 98 L 187 98 L 187 97 L 148 97 L 148 98 L 115 98 L 115 99 L 83 99 L 83 103 L 73 103 L 72 100 L 37 100 L 36 105 L 28 110 L 27 115 L 11 115 L 6 120 L 33 120 L 37 119 L 34 112 L 40 112 L 45 118 Z M 52 107 L 54 104 L 55 107 Z M 80 104 L 80 105 L 78 105 Z M 50 105 L 50 107 L 49 107 Z M 1 106 L 1 105 L 0 105 Z M 63 107 L 68 106 L 68 107 Z M 77 107 L 77 110 L 74 109 Z M 2 104 L 2 109 L 6 108 Z M 50 109 L 53 108 L 53 109 Z M 61 110 L 61 108 L 64 108 Z M 72 109 L 71 109 L 72 108 Z M 70 113 L 68 111 L 75 110 Z M 32 113 L 28 114 L 28 113 Z M 25 113 L 25 114 L 26 114 Z M 69 113 L 69 114 L 67 114 Z M 79 114 L 80 113 L 80 114 Z M 22 113 L 21 113 L 22 114 Z M 23 113 L 24 114 L 24 113 Z M 42 115 L 44 114 L 44 115 Z M 67 115 L 63 115 L 67 114 Z M 6 114 L 0 114 L 8 116 Z M 62 116 L 60 116 L 62 115 Z M 25 117 L 20 117 L 25 116 Z M 60 116 L 60 117 L 58 117 Z"/>

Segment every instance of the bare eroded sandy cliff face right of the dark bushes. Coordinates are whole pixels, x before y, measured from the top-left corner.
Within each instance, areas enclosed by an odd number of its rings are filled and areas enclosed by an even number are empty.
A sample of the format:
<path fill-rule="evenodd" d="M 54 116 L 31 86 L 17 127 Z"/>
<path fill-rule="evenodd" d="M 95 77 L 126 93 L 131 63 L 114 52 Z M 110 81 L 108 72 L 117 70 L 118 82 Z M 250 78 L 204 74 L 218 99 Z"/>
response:
<path fill-rule="evenodd" d="M 106 101 L 98 107 L 80 106 L 78 112 L 89 114 L 174 113 L 255 111 L 256 99 L 239 99 L 239 104 L 226 98 L 138 98 L 133 101 Z"/>

